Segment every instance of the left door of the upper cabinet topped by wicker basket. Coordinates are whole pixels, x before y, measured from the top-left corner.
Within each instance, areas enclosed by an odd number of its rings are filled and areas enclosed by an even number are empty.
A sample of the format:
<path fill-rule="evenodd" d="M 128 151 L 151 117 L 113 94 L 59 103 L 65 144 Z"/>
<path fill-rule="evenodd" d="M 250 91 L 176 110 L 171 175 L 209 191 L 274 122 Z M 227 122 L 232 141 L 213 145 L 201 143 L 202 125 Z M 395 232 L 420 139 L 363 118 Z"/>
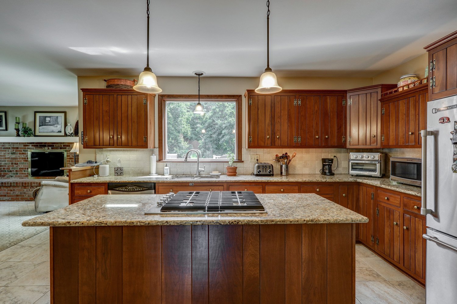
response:
<path fill-rule="evenodd" d="M 114 146 L 114 94 L 83 94 L 83 98 L 84 147 Z"/>

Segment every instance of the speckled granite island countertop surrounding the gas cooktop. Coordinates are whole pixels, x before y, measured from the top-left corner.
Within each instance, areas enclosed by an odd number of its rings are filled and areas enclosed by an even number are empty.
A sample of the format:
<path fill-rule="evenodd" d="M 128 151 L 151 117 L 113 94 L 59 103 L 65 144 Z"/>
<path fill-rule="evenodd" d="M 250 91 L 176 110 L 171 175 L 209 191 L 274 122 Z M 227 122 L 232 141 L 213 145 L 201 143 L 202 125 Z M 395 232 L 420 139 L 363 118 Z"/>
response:
<path fill-rule="evenodd" d="M 366 223 L 368 219 L 317 194 L 256 194 L 266 214 L 144 215 L 158 194 L 97 195 L 22 223 L 23 226 L 138 226 Z"/>

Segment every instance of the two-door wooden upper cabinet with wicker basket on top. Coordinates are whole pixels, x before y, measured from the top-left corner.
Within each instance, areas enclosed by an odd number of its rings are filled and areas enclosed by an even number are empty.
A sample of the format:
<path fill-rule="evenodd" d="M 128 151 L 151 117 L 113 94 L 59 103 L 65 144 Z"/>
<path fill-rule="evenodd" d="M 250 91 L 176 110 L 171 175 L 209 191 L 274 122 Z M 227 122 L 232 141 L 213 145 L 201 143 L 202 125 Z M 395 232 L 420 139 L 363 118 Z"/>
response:
<path fill-rule="evenodd" d="M 84 148 L 153 148 L 154 94 L 81 89 Z"/>

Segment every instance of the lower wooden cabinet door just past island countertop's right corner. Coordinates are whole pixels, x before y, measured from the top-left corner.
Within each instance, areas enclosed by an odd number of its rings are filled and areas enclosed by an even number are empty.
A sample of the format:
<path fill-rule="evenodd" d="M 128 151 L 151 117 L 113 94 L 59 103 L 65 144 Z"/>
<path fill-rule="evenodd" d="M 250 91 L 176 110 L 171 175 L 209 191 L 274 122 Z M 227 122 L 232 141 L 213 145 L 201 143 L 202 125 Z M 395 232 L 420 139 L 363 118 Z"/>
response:
<path fill-rule="evenodd" d="M 373 234 L 373 200 L 374 188 L 359 186 L 359 210 L 358 213 L 368 218 L 367 223 L 359 224 L 359 240 L 370 248 L 374 248 Z"/>

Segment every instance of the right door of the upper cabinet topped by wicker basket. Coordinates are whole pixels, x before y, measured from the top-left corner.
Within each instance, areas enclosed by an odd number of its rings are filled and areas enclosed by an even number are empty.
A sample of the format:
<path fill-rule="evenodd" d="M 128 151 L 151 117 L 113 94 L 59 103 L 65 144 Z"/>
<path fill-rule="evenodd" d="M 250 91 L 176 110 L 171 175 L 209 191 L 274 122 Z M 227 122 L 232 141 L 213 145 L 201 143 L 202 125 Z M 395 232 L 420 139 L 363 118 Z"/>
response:
<path fill-rule="evenodd" d="M 117 95 L 117 147 L 147 147 L 148 104 L 146 95 Z"/>

